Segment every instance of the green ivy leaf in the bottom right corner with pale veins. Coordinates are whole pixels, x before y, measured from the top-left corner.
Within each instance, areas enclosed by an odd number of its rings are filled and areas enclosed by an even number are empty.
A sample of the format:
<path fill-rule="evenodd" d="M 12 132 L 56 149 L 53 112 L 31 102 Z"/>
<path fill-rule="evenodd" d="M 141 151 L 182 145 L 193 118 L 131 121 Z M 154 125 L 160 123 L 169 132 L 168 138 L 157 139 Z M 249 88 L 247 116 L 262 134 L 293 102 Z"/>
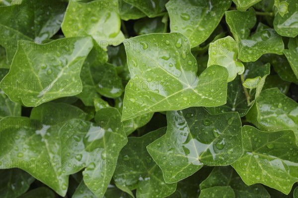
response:
<path fill-rule="evenodd" d="M 261 97 L 261 96 L 260 96 Z M 298 179 L 298 146 L 292 131 L 242 128 L 244 155 L 233 168 L 246 185 L 261 183 L 288 195 Z"/>

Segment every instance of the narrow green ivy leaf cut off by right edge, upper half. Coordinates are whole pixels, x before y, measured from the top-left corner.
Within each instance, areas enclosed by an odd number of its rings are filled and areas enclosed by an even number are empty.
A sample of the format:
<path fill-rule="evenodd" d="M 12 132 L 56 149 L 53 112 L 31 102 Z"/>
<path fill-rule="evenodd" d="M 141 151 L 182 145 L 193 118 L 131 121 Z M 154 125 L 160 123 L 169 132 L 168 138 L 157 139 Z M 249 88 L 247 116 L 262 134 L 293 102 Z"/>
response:
<path fill-rule="evenodd" d="M 284 54 L 287 57 L 295 76 L 298 78 L 298 37 L 290 38 L 288 48 L 289 50 L 284 50 Z"/>

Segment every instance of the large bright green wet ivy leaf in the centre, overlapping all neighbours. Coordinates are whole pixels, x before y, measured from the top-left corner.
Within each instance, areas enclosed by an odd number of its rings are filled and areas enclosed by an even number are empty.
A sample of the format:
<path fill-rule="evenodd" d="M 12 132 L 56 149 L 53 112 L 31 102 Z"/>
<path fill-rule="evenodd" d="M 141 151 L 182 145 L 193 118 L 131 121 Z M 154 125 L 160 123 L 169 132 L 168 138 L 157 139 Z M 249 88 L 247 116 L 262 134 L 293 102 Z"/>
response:
<path fill-rule="evenodd" d="M 122 121 L 150 112 L 226 102 L 227 70 L 210 66 L 198 77 L 197 62 L 182 34 L 138 36 L 125 46 L 132 77 L 126 86 Z"/>

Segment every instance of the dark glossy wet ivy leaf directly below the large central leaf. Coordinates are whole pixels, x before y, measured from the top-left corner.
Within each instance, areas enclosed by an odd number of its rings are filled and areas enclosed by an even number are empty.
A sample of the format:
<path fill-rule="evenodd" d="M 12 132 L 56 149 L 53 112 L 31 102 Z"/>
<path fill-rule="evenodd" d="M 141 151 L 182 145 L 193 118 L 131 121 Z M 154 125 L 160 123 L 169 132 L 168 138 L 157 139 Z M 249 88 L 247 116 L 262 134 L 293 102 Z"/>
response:
<path fill-rule="evenodd" d="M 169 111 L 166 116 L 166 134 L 147 149 L 167 183 L 178 182 L 203 165 L 229 165 L 242 155 L 238 113 L 210 115 L 197 107 Z M 165 160 L 166 167 L 161 163 Z"/>

